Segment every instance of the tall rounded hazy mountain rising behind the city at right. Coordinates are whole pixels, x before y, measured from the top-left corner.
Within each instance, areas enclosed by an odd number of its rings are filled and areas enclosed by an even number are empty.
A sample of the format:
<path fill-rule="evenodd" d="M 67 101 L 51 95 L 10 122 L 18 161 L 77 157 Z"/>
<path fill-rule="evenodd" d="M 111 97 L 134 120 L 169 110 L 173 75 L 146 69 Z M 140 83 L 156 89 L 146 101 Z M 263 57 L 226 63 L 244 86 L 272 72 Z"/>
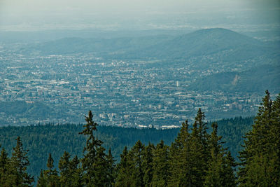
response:
<path fill-rule="evenodd" d="M 150 57 L 197 57 L 219 54 L 221 60 L 244 60 L 265 55 L 271 48 L 266 43 L 228 29 L 201 29 L 139 51 Z"/>

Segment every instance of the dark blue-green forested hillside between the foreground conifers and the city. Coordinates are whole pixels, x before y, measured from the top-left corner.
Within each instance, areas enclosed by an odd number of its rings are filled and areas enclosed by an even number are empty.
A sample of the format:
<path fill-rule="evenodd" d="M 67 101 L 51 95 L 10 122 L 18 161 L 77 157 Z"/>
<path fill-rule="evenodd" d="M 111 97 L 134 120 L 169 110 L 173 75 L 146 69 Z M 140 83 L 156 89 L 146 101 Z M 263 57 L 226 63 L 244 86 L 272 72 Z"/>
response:
<path fill-rule="evenodd" d="M 248 118 L 230 118 L 218 120 L 218 135 L 223 136 L 225 147 L 229 148 L 232 156 L 237 159 L 238 151 L 241 151 L 242 136 L 251 129 L 253 117 Z M 211 129 L 211 122 L 207 123 Z M 60 156 L 67 151 L 71 155 L 82 156 L 83 146 L 85 146 L 85 137 L 78 134 L 83 129 L 83 125 L 32 125 L 27 127 L 1 127 L 0 144 L 6 148 L 9 155 L 16 144 L 15 139 L 19 136 L 22 139 L 24 148 L 29 150 L 28 156 L 30 166 L 28 171 L 37 175 L 40 169 L 45 169 L 48 155 L 51 153 L 55 165 L 57 165 Z M 161 140 L 165 144 L 171 145 L 179 129 L 156 130 L 123 128 L 111 126 L 99 126 L 94 135 L 104 141 L 104 148 L 111 148 L 112 154 L 117 161 L 120 161 L 120 153 L 123 148 L 132 147 L 135 142 L 140 140 L 147 145 L 149 142 L 158 144 Z"/>

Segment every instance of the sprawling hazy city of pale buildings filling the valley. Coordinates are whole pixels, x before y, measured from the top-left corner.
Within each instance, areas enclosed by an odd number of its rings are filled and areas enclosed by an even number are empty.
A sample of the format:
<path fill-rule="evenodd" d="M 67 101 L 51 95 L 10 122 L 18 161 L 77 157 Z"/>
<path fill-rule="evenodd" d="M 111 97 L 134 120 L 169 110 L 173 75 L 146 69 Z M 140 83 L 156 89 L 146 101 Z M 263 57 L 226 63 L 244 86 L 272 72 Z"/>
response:
<path fill-rule="evenodd" d="M 0 54 L 1 125 L 83 123 L 91 109 L 102 125 L 179 127 L 198 108 L 209 120 L 255 115 L 263 95 L 190 90 L 188 85 L 211 69 L 158 66 L 157 60 Z M 5 110 L 9 104 L 13 107 Z M 25 116 L 17 111 L 22 107 L 29 109 Z"/>

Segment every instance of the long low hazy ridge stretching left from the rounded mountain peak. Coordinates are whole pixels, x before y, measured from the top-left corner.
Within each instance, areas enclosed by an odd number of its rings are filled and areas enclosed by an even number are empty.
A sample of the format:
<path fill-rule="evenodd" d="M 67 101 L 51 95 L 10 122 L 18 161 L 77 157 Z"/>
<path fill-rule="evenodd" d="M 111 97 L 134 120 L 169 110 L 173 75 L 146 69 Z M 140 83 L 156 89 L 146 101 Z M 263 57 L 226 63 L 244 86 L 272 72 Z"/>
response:
<path fill-rule="evenodd" d="M 93 36 L 94 37 L 94 36 Z M 83 38 L 64 38 L 55 41 L 36 43 L 22 49 L 25 53 L 38 52 L 42 55 L 64 55 L 72 53 L 98 53 L 112 55 L 124 53 L 127 50 L 138 50 L 147 46 L 155 45 L 171 39 L 173 36 L 142 36 L 142 37 L 123 37 L 117 39 L 83 39 Z"/>

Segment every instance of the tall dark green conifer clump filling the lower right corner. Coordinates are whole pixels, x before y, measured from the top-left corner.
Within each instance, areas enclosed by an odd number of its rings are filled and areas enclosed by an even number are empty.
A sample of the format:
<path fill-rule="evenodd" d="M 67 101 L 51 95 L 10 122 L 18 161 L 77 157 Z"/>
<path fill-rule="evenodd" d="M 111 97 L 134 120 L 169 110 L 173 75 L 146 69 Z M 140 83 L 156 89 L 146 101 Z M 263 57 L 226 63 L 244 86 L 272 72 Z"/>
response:
<path fill-rule="evenodd" d="M 240 152 L 239 186 L 280 186 L 279 96 L 272 102 L 269 92 L 265 93 Z"/>

